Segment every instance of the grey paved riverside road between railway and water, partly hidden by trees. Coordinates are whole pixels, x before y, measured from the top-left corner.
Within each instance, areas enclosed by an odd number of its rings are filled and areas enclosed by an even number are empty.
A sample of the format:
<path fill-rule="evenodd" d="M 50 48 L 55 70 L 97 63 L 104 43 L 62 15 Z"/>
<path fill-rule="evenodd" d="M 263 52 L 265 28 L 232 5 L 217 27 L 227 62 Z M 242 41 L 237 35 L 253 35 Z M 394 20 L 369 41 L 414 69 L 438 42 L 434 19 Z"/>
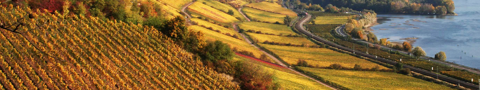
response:
<path fill-rule="evenodd" d="M 355 13 L 355 14 L 360 14 L 360 13 Z M 361 14 L 360 14 L 361 15 Z M 360 16 L 361 17 L 361 16 Z M 357 20 L 360 19 L 360 18 L 357 18 Z M 339 34 L 340 36 L 343 36 L 343 37 L 347 37 L 348 34 L 345 33 L 344 31 L 344 28 L 345 28 L 345 24 L 343 24 L 342 26 L 339 26 L 335 29 L 335 32 L 337 34 Z M 363 40 L 360 40 L 360 39 L 356 39 L 356 38 L 352 38 L 353 40 L 355 41 L 358 41 L 358 42 L 361 42 L 361 43 L 364 43 L 364 44 L 373 44 L 371 42 L 366 42 L 366 41 L 363 41 Z M 373 44 L 375 45 L 375 44 Z M 401 51 L 401 50 L 397 50 L 397 49 L 393 49 L 393 48 L 390 48 L 388 46 L 384 46 L 384 45 L 380 45 L 381 48 L 383 49 L 387 49 L 387 50 L 393 50 L 393 51 L 398 51 L 402 54 L 409 54 L 411 52 L 405 52 L 405 51 Z M 470 72 L 473 72 L 473 73 L 476 73 L 476 74 L 480 74 L 480 70 L 479 69 L 476 69 L 476 68 L 472 68 L 472 67 L 467 67 L 467 66 L 463 66 L 463 65 L 459 65 L 459 64 L 455 64 L 455 63 L 451 63 L 451 62 L 447 62 L 447 61 L 443 61 L 443 60 L 436 60 L 434 59 L 433 57 L 429 57 L 429 56 L 420 56 L 420 59 L 425 59 L 425 60 L 429 60 L 429 61 L 432 61 L 432 62 L 435 62 L 435 63 L 439 63 L 439 64 L 443 64 L 445 66 L 451 66 L 451 67 L 455 67 L 455 68 L 459 68 L 459 69 L 465 69 L 465 70 L 468 70 Z M 435 67 L 434 67 L 435 68 Z"/>

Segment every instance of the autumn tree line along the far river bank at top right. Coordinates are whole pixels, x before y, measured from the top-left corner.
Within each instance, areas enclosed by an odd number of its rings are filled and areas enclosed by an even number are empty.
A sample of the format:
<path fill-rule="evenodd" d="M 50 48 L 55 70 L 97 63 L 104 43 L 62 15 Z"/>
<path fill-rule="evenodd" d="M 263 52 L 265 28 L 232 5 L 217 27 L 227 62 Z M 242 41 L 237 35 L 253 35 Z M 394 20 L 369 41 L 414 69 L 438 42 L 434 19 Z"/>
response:
<path fill-rule="evenodd" d="M 301 0 L 307 4 L 332 4 L 361 11 L 363 9 L 385 13 L 455 14 L 453 0 Z"/>

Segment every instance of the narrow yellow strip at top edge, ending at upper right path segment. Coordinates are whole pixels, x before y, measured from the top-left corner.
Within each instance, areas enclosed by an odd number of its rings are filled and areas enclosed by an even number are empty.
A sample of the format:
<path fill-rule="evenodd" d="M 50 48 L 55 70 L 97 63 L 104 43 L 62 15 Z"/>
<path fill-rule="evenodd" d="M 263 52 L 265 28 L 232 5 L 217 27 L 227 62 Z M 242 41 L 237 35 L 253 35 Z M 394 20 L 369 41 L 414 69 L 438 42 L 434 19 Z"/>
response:
<path fill-rule="evenodd" d="M 241 19 L 241 21 L 246 21 L 247 19 L 245 19 L 243 17 L 243 15 L 240 14 L 240 12 L 233 8 L 232 6 L 228 5 L 228 4 L 224 4 L 224 3 L 221 3 L 221 2 L 218 2 L 216 0 L 197 0 L 198 2 L 205 2 L 205 5 L 207 6 L 212 6 L 213 8 L 219 10 L 219 11 L 222 11 L 222 12 L 228 12 L 228 10 L 232 10 L 233 11 L 233 17 L 239 17 Z"/>

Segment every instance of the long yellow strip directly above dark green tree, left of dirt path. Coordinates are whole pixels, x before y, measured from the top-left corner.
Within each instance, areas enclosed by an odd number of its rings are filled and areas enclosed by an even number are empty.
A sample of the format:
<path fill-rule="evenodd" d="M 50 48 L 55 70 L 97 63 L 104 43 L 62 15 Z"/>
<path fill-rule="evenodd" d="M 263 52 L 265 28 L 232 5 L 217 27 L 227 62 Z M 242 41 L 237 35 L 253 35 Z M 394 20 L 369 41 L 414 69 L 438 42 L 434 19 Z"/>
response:
<path fill-rule="evenodd" d="M 202 33 L 205 34 L 205 39 L 207 40 L 219 40 L 224 43 L 227 43 L 228 45 L 230 45 L 231 48 L 237 47 L 240 51 L 252 52 L 256 58 L 260 58 L 260 56 L 264 54 L 263 52 L 259 51 L 257 48 L 253 47 L 252 45 L 247 44 L 245 41 L 241 41 L 239 39 L 236 39 L 224 34 L 220 34 L 215 31 L 208 30 L 201 26 L 192 25 L 192 26 L 189 26 L 189 29 L 196 32 L 201 31 Z"/>

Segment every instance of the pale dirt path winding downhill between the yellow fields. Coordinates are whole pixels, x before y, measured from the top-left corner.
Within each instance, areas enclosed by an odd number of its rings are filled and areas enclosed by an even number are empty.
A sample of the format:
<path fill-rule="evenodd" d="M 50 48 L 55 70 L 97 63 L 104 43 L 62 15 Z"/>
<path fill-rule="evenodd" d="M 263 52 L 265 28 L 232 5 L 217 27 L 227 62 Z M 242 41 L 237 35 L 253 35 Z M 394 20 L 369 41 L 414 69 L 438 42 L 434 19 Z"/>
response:
<path fill-rule="evenodd" d="M 188 6 L 192 5 L 192 3 L 193 3 L 193 2 L 191 2 L 191 3 L 189 3 L 189 4 L 185 5 L 185 6 L 183 6 L 183 8 L 182 8 L 182 10 L 181 10 L 185 15 L 187 15 L 187 17 L 188 17 L 187 19 L 192 18 L 192 17 L 190 16 L 190 14 L 188 14 L 187 12 L 185 12 L 185 9 L 186 9 Z M 250 19 L 248 19 L 248 18 L 245 16 L 245 14 L 243 14 L 243 12 L 241 11 L 241 9 L 243 9 L 243 6 L 242 6 L 242 8 L 240 8 L 238 11 L 239 11 L 248 21 L 250 21 Z M 233 23 L 232 25 L 233 25 L 234 30 L 238 32 L 239 30 L 238 30 L 238 28 L 237 28 L 237 23 Z M 247 42 L 248 44 L 250 44 L 250 45 L 252 45 L 253 47 L 257 48 L 258 50 L 262 51 L 262 52 L 263 52 L 265 55 L 267 55 L 268 57 L 274 59 L 274 60 L 275 60 L 278 64 L 280 64 L 282 67 L 287 67 L 287 68 L 288 68 L 288 66 L 286 66 L 284 63 L 282 63 L 280 60 L 278 60 L 275 56 L 272 56 L 272 55 L 268 54 L 267 52 L 265 52 L 264 50 L 258 48 L 256 45 L 253 45 L 252 42 L 251 42 L 244 34 L 242 34 L 242 33 L 239 33 L 239 34 L 243 37 L 243 39 L 245 39 L 245 42 Z M 320 84 L 324 85 L 325 87 L 328 87 L 328 88 L 330 88 L 330 89 L 332 89 L 332 90 L 337 90 L 336 88 L 333 88 L 333 87 L 331 87 L 331 86 L 328 86 L 327 84 L 325 84 L 325 83 L 323 83 L 323 82 L 320 82 L 320 81 L 318 81 L 317 79 L 313 79 L 312 77 L 309 77 L 309 76 L 307 76 L 307 75 L 304 75 L 304 74 L 298 72 L 297 70 L 294 70 L 294 69 L 292 69 L 292 68 L 288 68 L 288 69 L 290 69 L 290 70 L 292 70 L 292 71 L 300 74 L 300 75 L 303 76 L 303 77 L 307 77 L 307 78 L 309 78 L 309 79 L 315 80 L 315 82 L 320 83 Z"/>

